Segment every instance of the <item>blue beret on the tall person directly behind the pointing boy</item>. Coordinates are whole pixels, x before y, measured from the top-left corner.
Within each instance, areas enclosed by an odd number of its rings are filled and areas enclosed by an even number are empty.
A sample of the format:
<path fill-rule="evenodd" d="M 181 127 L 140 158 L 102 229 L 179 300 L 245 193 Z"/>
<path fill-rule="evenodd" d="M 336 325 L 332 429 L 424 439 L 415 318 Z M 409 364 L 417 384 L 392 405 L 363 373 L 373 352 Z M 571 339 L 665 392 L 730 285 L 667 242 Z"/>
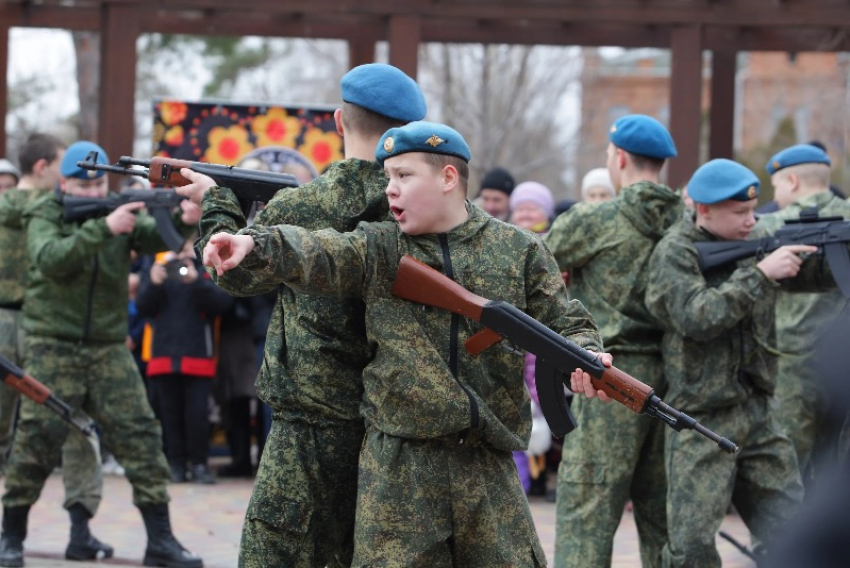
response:
<path fill-rule="evenodd" d="M 342 100 L 402 122 L 425 118 L 425 97 L 416 81 L 383 63 L 359 65 L 340 82 Z"/>

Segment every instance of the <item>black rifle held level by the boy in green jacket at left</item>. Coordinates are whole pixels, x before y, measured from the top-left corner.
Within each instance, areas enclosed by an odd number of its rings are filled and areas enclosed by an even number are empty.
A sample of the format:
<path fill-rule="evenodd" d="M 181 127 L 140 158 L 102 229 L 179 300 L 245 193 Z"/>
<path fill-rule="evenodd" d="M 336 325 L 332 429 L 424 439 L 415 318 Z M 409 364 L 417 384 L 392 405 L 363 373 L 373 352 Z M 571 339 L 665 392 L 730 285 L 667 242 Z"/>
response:
<path fill-rule="evenodd" d="M 82 221 L 106 215 L 125 203 L 141 201 L 156 220 L 156 229 L 162 241 L 174 252 L 183 248 L 186 239 L 177 231 L 171 212 L 184 199 L 170 189 L 125 189 L 106 197 L 81 197 L 62 194 L 63 218 L 66 222 Z"/>

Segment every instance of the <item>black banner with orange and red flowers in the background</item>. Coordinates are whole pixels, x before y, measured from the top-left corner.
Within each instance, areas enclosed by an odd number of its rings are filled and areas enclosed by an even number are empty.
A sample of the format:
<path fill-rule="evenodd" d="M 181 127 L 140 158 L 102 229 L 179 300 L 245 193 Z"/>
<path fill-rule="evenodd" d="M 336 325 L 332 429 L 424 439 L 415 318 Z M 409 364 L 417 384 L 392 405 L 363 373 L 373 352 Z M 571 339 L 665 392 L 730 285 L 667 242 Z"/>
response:
<path fill-rule="evenodd" d="M 154 155 L 291 173 L 301 183 L 343 159 L 332 108 L 161 100 Z"/>

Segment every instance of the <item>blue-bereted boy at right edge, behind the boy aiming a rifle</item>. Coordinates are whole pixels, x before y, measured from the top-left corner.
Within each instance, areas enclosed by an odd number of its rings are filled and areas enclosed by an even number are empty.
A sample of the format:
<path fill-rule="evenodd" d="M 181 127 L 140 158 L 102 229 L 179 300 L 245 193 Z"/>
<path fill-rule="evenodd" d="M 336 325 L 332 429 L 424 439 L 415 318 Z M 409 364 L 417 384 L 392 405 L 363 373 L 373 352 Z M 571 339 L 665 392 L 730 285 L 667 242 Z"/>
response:
<path fill-rule="evenodd" d="M 780 211 L 762 216 L 760 228 L 776 232 L 786 219 L 803 213 L 850 218 L 850 202 L 829 190 L 829 156 L 817 146 L 786 148 L 771 157 L 765 169 Z M 813 458 L 835 459 L 841 425 L 830 423 L 814 353 L 845 303 L 837 289 L 825 294 L 780 292 L 776 300 L 776 418 L 794 444 L 804 483 L 817 473 Z"/>

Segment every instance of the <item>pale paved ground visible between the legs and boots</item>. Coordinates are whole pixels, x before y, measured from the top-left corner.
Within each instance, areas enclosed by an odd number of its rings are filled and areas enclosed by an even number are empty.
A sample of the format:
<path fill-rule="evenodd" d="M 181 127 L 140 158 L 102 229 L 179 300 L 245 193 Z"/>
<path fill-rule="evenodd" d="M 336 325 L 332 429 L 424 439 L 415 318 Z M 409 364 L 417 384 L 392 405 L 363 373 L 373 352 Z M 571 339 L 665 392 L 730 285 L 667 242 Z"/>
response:
<path fill-rule="evenodd" d="M 251 480 L 220 480 L 216 485 L 177 484 L 169 486 L 171 520 L 178 539 L 189 550 L 203 556 L 207 568 L 234 568 L 242 518 L 251 494 Z M 115 547 L 116 558 L 103 562 L 64 560 L 69 521 L 62 509 L 62 479 L 54 474 L 30 513 L 25 559 L 29 568 L 138 566 L 145 548 L 145 531 L 138 511 L 131 504 L 130 484 L 123 477 L 107 476 L 104 501 L 92 521 L 92 530 Z M 532 498 L 531 509 L 550 562 L 555 538 L 555 505 Z M 737 516 L 726 518 L 723 529 L 739 541 L 749 543 L 747 530 Z M 723 566 L 751 568 L 750 562 L 725 540 L 718 540 Z M 637 533 L 630 513 L 614 543 L 614 568 L 640 566 Z"/>

